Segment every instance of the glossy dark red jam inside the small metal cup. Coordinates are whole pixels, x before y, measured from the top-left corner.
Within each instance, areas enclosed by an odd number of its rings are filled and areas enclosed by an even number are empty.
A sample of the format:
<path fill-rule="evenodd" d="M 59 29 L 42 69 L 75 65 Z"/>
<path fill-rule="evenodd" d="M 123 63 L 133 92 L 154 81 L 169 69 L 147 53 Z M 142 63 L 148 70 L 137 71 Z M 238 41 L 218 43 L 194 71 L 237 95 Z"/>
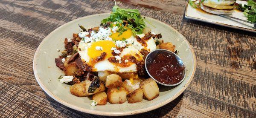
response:
<path fill-rule="evenodd" d="M 148 72 L 157 81 L 165 84 L 179 83 L 184 77 L 185 66 L 178 63 L 175 55 L 161 52 L 152 59 Z"/>

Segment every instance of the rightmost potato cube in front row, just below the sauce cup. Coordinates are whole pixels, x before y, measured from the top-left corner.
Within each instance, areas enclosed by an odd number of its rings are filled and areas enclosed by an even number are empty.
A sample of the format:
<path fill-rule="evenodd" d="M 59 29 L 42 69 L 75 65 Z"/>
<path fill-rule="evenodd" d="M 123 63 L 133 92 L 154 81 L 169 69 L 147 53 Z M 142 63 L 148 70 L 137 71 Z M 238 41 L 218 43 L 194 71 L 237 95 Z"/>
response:
<path fill-rule="evenodd" d="M 145 81 L 140 82 L 140 88 L 144 92 L 144 97 L 147 98 L 149 101 L 153 100 L 154 98 L 157 98 L 157 96 L 159 95 L 158 85 L 151 78 L 148 78 Z"/>

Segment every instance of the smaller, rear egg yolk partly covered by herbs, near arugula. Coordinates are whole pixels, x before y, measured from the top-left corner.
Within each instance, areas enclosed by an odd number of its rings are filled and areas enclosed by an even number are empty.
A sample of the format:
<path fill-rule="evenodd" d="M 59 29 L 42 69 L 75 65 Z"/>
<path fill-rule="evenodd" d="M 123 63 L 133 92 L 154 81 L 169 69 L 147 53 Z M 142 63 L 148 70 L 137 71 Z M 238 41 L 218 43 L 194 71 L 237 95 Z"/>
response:
<path fill-rule="evenodd" d="M 125 32 L 122 33 L 122 35 L 119 35 L 119 32 L 113 33 L 110 37 L 114 40 L 123 40 L 123 39 L 128 39 L 131 37 L 132 32 L 131 29 L 129 29 L 128 27 L 124 27 L 125 29 L 127 29 Z"/>

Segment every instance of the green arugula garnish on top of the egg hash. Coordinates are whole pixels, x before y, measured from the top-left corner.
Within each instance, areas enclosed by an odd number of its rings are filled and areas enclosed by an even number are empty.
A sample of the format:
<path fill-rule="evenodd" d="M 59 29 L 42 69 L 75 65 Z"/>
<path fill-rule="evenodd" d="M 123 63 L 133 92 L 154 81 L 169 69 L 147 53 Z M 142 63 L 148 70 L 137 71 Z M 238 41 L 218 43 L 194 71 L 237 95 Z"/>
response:
<path fill-rule="evenodd" d="M 133 35 L 142 34 L 146 27 L 145 18 L 140 15 L 137 9 L 122 9 L 119 6 L 113 6 L 112 13 L 109 17 L 103 19 L 103 24 L 108 22 L 123 23 L 123 20 L 128 21 L 127 27 L 131 29 Z M 147 20 L 145 20 L 147 22 Z"/>

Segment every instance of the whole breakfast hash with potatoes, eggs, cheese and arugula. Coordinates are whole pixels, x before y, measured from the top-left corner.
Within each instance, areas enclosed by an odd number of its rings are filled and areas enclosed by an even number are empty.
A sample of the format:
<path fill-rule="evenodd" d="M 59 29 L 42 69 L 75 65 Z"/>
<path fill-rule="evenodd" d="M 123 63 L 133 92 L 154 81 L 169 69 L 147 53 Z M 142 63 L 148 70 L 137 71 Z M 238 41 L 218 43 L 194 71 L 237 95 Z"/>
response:
<path fill-rule="evenodd" d="M 63 51 L 57 49 L 61 55 L 55 63 L 64 72 L 59 81 L 71 85 L 73 95 L 92 96 L 92 106 L 157 98 L 159 88 L 145 70 L 145 57 L 156 49 L 175 52 L 175 45 L 164 43 L 145 22 L 150 24 L 138 10 L 114 6 L 100 26 L 79 25 L 81 32 L 65 38 Z"/>

